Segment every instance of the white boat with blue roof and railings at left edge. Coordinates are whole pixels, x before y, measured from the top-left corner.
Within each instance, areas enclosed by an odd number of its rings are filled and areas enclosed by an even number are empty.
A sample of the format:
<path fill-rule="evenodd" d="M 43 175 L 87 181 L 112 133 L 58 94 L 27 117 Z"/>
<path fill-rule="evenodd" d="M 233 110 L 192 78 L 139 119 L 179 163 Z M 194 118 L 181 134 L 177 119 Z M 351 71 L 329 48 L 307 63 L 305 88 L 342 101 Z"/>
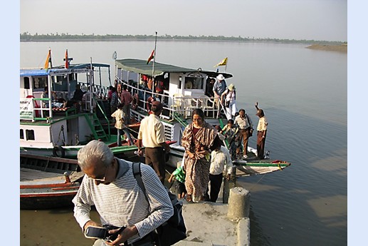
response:
<path fill-rule="evenodd" d="M 101 76 L 96 76 L 100 85 L 95 84 L 94 73 L 100 73 L 101 68 L 108 69 L 110 80 L 110 65 L 100 63 L 21 69 L 21 148 L 52 149 L 56 145 L 86 143 L 93 134 L 95 139 L 106 137 L 96 134 L 96 125 L 102 126 L 94 118 L 98 100 L 107 96 Z M 83 91 L 80 101 L 72 100 L 77 87 Z"/>

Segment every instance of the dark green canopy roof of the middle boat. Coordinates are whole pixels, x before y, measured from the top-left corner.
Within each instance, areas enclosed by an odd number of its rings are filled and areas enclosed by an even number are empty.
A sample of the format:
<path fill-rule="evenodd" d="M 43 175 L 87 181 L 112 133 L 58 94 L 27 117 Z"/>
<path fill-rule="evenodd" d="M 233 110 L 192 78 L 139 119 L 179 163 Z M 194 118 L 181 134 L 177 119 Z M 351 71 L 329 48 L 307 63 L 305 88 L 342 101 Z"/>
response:
<path fill-rule="evenodd" d="M 152 66 L 153 63 L 148 63 L 145 60 L 140 59 L 121 59 L 115 60 L 115 65 L 117 68 L 121 68 L 124 71 L 130 71 L 135 73 L 144 74 L 147 76 L 152 76 Z M 193 69 L 193 68 L 183 68 L 179 66 L 173 66 L 164 63 L 154 63 L 154 76 L 163 75 L 164 73 L 193 73 L 193 72 L 202 72 L 206 73 L 208 76 L 216 77 L 219 73 L 215 71 L 202 71 L 201 68 Z M 225 78 L 231 78 L 232 75 L 230 73 L 221 73 Z"/>

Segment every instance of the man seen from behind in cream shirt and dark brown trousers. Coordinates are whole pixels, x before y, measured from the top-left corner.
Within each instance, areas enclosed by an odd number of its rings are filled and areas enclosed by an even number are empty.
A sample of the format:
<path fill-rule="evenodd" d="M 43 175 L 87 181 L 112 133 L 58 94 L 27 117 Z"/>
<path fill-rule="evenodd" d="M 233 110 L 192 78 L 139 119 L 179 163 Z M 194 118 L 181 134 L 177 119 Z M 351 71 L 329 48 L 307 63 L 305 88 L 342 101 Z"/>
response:
<path fill-rule="evenodd" d="M 164 184 L 165 153 L 170 152 L 170 147 L 166 143 L 164 125 L 159 119 L 162 110 L 162 103 L 153 101 L 152 113 L 141 121 L 138 133 L 138 154 L 142 155 L 141 148 L 144 145 L 145 163 L 154 169 L 159 180 Z"/>

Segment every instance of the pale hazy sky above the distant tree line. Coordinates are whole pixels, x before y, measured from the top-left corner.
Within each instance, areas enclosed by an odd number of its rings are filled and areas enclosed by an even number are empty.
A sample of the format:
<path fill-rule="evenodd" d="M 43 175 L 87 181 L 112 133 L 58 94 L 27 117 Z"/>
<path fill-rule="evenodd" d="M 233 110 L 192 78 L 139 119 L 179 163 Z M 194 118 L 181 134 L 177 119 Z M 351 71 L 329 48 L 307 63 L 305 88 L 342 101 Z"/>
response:
<path fill-rule="evenodd" d="M 20 31 L 347 41 L 347 0 L 20 0 Z"/>

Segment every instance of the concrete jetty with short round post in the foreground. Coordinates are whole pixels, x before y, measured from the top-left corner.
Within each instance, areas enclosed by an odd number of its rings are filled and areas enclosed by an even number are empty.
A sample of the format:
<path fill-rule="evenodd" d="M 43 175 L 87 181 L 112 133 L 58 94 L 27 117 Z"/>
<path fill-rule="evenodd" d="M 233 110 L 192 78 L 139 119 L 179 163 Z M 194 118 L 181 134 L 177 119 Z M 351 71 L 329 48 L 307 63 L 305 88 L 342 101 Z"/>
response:
<path fill-rule="evenodd" d="M 222 192 L 217 203 L 188 203 L 182 200 L 187 237 L 175 245 L 251 245 L 250 193 L 240 187 L 231 188 L 228 204 L 222 203 L 222 200 Z"/>

